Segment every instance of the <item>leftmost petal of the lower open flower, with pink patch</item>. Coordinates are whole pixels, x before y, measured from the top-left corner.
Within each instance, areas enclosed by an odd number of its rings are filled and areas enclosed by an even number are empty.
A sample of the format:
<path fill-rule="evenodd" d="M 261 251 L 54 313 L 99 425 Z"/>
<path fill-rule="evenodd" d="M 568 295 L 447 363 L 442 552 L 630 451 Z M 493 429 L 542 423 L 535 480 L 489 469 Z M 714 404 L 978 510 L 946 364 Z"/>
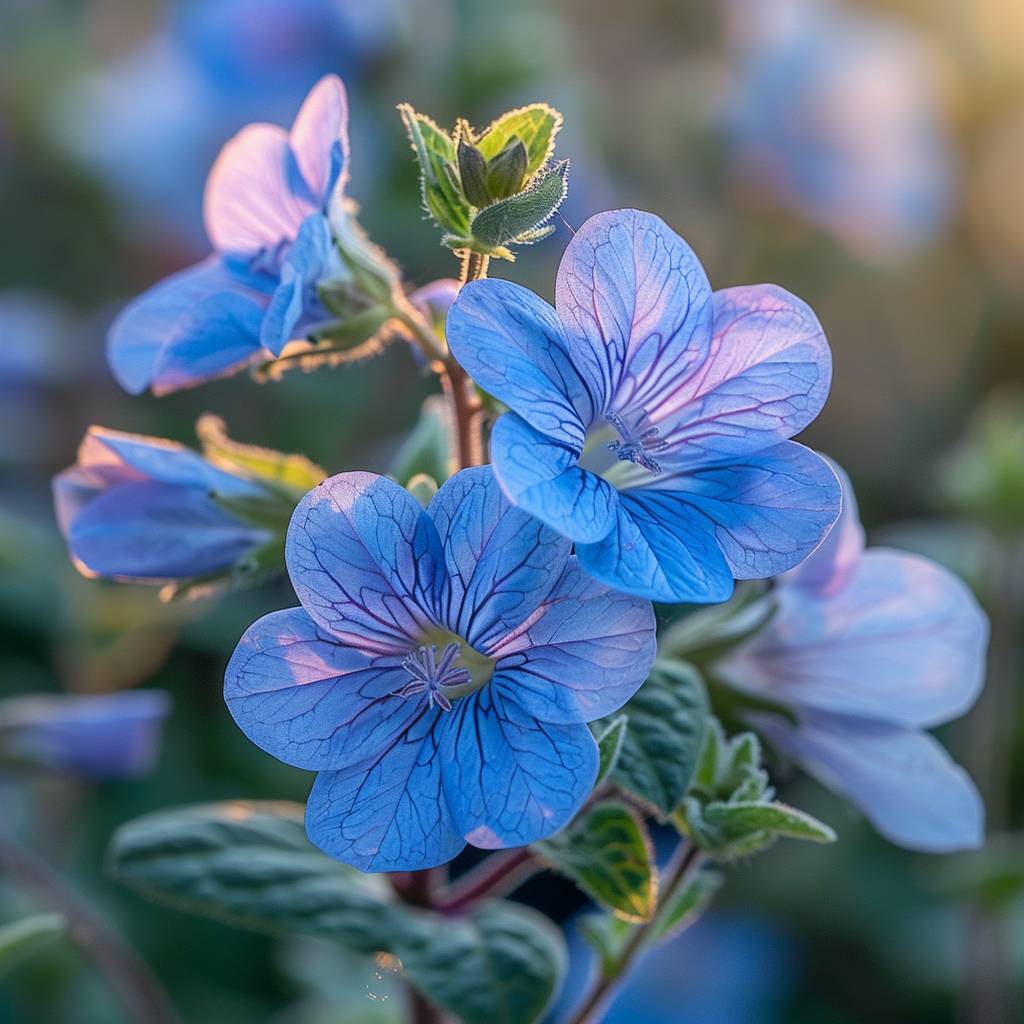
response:
<path fill-rule="evenodd" d="M 401 655 L 339 644 L 303 608 L 273 611 L 239 641 L 224 676 L 234 721 L 268 754 L 313 771 L 375 757 L 421 709 L 397 691 Z"/>

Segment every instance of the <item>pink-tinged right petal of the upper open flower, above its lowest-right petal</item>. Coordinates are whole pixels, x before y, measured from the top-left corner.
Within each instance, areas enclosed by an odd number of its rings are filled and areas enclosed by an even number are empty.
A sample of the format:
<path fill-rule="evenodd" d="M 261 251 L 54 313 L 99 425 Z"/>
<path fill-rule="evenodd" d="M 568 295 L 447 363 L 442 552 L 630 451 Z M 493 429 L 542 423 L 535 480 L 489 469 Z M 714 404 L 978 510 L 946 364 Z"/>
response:
<path fill-rule="evenodd" d="M 831 353 L 814 312 L 774 285 L 714 295 L 711 351 L 656 406 L 672 465 L 725 461 L 786 440 L 821 412 Z"/>

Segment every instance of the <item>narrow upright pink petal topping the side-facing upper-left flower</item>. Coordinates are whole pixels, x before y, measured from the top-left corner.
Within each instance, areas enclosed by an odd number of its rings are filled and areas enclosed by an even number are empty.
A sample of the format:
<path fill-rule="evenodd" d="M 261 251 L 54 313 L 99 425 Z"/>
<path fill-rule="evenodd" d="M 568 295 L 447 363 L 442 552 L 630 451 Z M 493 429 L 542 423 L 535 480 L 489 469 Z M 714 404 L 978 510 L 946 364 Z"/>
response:
<path fill-rule="evenodd" d="M 292 125 L 292 151 L 299 172 L 321 207 L 348 176 L 348 97 L 337 75 L 312 87 Z"/>

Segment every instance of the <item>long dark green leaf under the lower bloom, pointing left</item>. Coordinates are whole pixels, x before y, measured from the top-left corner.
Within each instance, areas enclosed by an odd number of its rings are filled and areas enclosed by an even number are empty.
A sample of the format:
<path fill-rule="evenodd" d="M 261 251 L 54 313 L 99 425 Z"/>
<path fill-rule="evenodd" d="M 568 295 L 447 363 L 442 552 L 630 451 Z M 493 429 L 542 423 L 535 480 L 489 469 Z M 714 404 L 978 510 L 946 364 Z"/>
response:
<path fill-rule="evenodd" d="M 306 839 L 299 804 L 228 801 L 158 811 L 117 830 L 108 869 L 142 895 L 241 928 L 388 947 L 398 908 L 383 878 Z"/>

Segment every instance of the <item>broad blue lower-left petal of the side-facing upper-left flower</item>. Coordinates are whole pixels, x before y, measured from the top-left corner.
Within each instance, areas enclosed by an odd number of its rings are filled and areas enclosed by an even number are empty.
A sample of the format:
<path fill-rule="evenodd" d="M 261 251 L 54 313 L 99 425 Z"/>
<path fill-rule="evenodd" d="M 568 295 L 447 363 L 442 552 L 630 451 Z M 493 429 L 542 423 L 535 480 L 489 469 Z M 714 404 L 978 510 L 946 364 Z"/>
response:
<path fill-rule="evenodd" d="M 177 375 L 182 381 L 177 387 L 241 369 L 259 349 L 268 290 L 262 278 L 242 281 L 217 257 L 160 282 L 129 303 L 111 326 L 106 357 L 118 383 L 131 394 L 141 394 L 160 376 L 161 389 L 174 390 L 162 356 L 176 346 L 203 364 L 198 369 L 185 366 Z"/>

